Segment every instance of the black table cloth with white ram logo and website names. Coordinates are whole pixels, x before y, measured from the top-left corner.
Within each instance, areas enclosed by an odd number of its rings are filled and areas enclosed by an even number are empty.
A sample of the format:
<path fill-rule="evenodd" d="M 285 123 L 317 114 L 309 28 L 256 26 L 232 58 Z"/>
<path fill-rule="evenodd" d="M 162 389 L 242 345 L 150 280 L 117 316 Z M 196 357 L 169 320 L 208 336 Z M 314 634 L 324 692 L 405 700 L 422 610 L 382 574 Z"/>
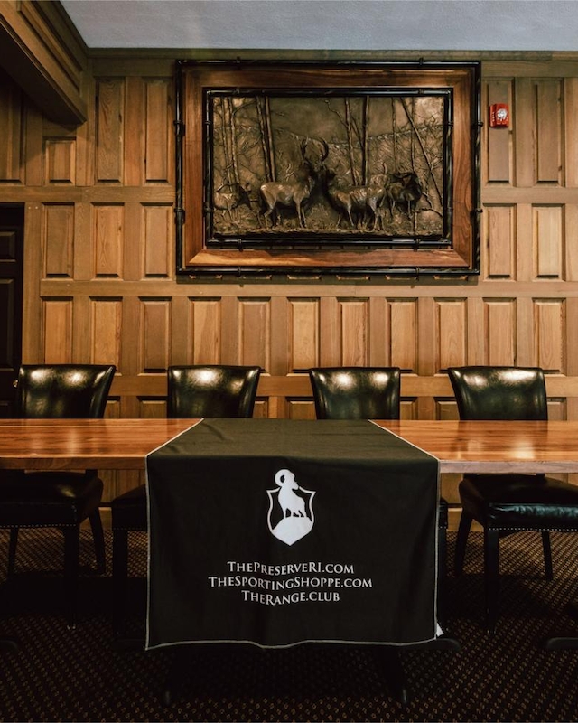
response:
<path fill-rule="evenodd" d="M 431 455 L 369 421 L 203 419 L 146 467 L 147 649 L 435 638 Z"/>

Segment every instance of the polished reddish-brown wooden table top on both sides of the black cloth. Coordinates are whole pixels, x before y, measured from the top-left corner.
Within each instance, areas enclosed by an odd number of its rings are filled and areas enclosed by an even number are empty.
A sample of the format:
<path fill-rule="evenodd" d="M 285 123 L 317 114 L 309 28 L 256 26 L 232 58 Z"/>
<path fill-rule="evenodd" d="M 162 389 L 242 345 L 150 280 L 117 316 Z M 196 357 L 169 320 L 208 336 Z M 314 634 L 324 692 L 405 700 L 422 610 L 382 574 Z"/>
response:
<path fill-rule="evenodd" d="M 196 421 L 0 419 L 0 468 L 144 469 L 146 455 Z M 376 424 L 437 457 L 443 473 L 578 473 L 578 421 Z"/>

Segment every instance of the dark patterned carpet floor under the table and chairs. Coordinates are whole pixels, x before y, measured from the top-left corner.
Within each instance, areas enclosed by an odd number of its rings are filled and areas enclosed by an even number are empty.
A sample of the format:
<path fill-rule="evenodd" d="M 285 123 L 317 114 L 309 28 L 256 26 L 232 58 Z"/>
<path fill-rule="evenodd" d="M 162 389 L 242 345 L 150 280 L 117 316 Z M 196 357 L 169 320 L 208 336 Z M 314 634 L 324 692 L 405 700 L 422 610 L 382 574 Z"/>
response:
<path fill-rule="evenodd" d="M 0 636 L 19 640 L 0 652 L 0 718 L 5 721 L 568 721 L 578 720 L 578 651 L 545 652 L 548 635 L 578 634 L 564 606 L 578 596 L 578 537 L 554 537 L 555 581 L 541 577 L 538 535 L 502 542 L 502 614 L 490 637 L 481 621 L 481 534 L 474 533 L 466 574 L 449 580 L 448 634 L 462 646 L 408 651 L 402 661 L 411 700 L 392 696 L 371 650 L 300 646 L 263 652 L 241 646 L 187 649 L 184 681 L 171 705 L 163 683 L 173 652 L 117 650 L 110 627 L 109 577 L 82 580 L 82 619 L 73 631 L 61 617 L 61 578 L 47 574 L 61 559 L 55 532 L 21 533 L 17 572 L 0 588 Z M 450 559 L 453 552 L 450 535 Z M 7 531 L 0 533 L 5 579 Z M 143 571 L 144 535 L 132 545 Z M 108 555 L 110 536 L 107 534 Z M 91 563 L 89 533 L 83 561 Z M 109 558 L 110 559 L 110 558 Z M 142 588 L 135 586 L 135 607 Z M 142 609 L 142 608 L 141 608 Z M 142 632 L 142 618 L 131 620 Z"/>

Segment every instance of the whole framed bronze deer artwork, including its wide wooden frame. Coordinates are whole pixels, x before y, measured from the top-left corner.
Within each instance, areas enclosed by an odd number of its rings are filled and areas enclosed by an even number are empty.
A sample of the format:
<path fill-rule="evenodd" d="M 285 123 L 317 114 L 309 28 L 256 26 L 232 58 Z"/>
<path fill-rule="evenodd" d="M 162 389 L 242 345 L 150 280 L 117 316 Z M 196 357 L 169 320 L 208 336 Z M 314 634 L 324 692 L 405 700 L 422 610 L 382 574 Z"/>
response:
<path fill-rule="evenodd" d="M 180 274 L 479 273 L 478 62 L 177 62 Z"/>

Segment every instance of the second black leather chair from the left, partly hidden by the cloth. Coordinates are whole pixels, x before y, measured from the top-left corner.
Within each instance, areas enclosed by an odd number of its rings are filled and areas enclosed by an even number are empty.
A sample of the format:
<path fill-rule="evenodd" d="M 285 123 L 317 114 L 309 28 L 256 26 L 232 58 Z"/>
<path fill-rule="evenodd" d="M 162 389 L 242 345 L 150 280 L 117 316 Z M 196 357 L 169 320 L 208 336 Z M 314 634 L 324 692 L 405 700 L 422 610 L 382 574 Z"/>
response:
<path fill-rule="evenodd" d="M 172 366 L 167 374 L 169 418 L 252 417 L 260 367 Z M 141 484 L 111 503 L 113 530 L 113 628 L 124 634 L 128 532 L 146 531 L 146 488 Z"/>

